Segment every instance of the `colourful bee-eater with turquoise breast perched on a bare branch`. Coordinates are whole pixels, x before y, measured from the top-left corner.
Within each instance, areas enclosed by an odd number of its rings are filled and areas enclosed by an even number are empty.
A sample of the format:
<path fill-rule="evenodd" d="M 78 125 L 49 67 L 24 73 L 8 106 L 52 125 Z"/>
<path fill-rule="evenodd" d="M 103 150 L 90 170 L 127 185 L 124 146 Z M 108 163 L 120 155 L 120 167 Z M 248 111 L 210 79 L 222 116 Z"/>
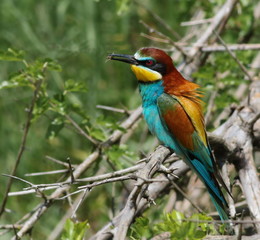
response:
<path fill-rule="evenodd" d="M 150 132 L 198 175 L 220 219 L 229 220 L 228 203 L 220 184 L 231 193 L 209 146 L 200 86 L 185 79 L 171 57 L 159 48 L 144 47 L 134 55 L 110 54 L 107 58 L 130 64 L 138 80 L 143 116 Z"/>

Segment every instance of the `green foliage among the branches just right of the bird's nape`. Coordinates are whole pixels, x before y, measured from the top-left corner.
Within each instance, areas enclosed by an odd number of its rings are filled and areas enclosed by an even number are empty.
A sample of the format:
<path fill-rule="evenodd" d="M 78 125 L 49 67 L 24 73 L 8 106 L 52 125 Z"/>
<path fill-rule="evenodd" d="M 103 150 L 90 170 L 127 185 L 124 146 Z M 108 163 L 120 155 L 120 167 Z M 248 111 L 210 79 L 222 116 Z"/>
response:
<path fill-rule="evenodd" d="M 239 53 L 237 57 L 244 64 L 252 58 L 252 53 Z M 214 101 L 216 105 L 215 115 L 220 113 L 231 103 L 238 102 L 234 95 L 234 89 L 242 83 L 248 84 L 245 75 L 236 61 L 226 52 L 216 53 L 210 61 L 193 73 L 196 82 L 202 87 L 205 94 L 204 101 L 207 103 L 212 91 L 217 91 Z"/>

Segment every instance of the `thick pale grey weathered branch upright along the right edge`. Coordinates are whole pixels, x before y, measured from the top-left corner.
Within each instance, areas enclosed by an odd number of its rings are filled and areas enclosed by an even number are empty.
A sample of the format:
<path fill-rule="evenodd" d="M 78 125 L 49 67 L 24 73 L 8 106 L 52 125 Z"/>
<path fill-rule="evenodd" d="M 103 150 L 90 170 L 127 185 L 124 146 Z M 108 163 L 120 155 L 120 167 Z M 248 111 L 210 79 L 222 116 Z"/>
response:
<path fill-rule="evenodd" d="M 250 106 L 236 110 L 222 126 L 214 131 L 233 149 L 233 163 L 238 171 L 239 179 L 246 197 L 250 213 L 254 220 L 260 220 L 260 182 L 253 159 L 252 126 L 250 121 L 260 112 L 260 81 L 251 84 Z M 260 232 L 260 224 L 257 224 Z"/>

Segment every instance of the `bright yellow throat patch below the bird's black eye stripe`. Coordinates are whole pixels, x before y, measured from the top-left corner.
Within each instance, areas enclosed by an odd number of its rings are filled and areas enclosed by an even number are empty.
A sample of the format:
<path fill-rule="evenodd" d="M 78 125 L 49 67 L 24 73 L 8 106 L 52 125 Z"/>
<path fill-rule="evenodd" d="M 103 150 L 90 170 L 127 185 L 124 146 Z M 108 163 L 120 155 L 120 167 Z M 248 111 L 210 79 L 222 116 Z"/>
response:
<path fill-rule="evenodd" d="M 138 81 L 152 82 L 162 79 L 162 75 L 160 73 L 151 69 L 146 69 L 142 66 L 131 65 L 131 69 Z"/>

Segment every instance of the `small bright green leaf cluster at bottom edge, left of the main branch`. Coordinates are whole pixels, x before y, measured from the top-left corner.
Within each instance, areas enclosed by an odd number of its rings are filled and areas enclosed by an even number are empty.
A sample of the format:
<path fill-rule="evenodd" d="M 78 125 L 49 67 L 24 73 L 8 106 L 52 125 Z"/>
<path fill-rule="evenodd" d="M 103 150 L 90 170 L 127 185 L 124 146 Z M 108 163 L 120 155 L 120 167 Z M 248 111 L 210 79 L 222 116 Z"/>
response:
<path fill-rule="evenodd" d="M 89 228 L 88 221 L 73 222 L 67 219 L 61 236 L 62 240 L 82 240 L 86 230 Z"/>

